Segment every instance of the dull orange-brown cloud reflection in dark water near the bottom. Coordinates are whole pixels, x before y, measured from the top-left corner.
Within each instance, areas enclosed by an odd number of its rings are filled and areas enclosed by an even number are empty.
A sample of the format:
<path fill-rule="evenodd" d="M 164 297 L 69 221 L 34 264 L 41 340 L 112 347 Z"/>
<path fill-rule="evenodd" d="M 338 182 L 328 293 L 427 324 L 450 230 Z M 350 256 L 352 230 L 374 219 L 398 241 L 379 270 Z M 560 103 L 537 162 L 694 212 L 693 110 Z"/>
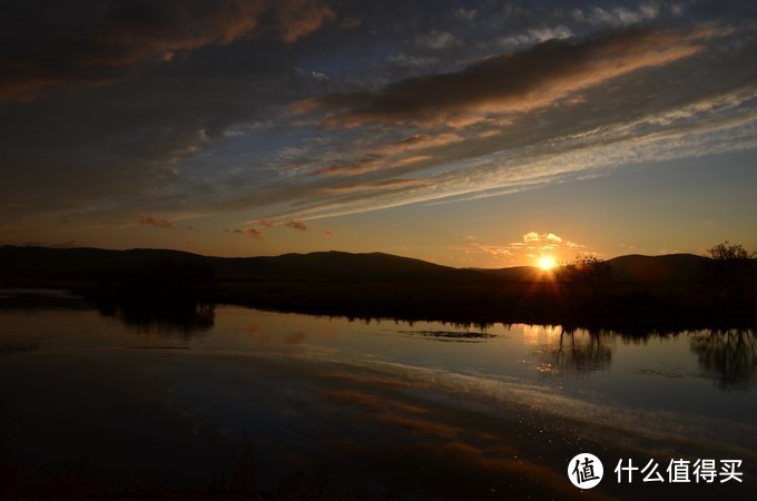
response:
<path fill-rule="evenodd" d="M 392 429 L 389 433 L 377 430 L 376 436 L 383 434 L 394 439 L 389 443 L 373 440 L 362 444 L 342 442 L 331 445 L 344 450 L 346 454 L 358 454 L 377 462 L 382 456 L 393 458 L 394 464 L 400 468 L 404 461 L 414 468 L 419 463 L 423 464 L 425 470 L 433 472 L 435 479 L 459 479 L 458 489 L 469 485 L 492 491 L 494 489 L 491 485 L 503 489 L 524 482 L 531 487 L 534 483 L 543 485 L 552 498 L 572 499 L 577 495 L 576 491 L 566 488 L 562 472 L 553 468 L 554 463 L 559 463 L 559 458 L 557 461 L 552 459 L 550 462 L 553 464 L 550 465 L 542 458 L 530 454 L 532 441 L 542 441 L 548 445 L 551 443 L 547 435 L 527 436 L 523 429 L 528 426 L 513 423 L 502 433 L 500 420 L 482 420 L 475 426 L 465 425 L 466 418 L 470 419 L 465 414 L 455 416 L 452 412 L 453 415 L 450 415 L 440 407 L 431 409 L 429 402 L 409 405 L 395 399 L 400 395 L 357 390 L 324 392 L 331 402 L 357 409 L 362 423 L 367 421 L 372 428 L 387 425 Z M 417 473 L 414 481 L 422 484 L 423 474 Z M 439 485 L 434 488 L 439 489 Z M 582 493 L 582 499 L 611 498 L 594 492 Z"/>

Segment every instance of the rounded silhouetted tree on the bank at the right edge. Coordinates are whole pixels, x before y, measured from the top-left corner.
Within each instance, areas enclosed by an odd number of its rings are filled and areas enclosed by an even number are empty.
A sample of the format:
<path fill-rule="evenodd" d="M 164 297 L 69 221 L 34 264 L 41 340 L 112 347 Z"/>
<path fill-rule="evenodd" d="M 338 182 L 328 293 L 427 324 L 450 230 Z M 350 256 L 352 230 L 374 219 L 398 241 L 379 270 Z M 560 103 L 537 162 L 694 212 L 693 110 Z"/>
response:
<path fill-rule="evenodd" d="M 715 302 L 743 304 L 755 287 L 755 254 L 728 240 L 707 249 L 699 283 Z"/>

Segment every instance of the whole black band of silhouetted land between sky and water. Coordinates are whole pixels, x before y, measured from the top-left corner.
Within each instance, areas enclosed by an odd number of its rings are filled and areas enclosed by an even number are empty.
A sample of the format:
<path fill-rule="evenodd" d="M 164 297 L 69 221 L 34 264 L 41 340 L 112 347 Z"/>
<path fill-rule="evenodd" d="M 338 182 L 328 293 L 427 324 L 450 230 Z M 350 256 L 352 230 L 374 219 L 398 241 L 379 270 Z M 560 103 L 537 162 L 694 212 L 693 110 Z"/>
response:
<path fill-rule="evenodd" d="M 709 256 L 577 258 L 556 271 L 456 269 L 385 254 L 212 258 L 170 250 L 1 247 L 0 284 L 73 289 L 135 325 L 213 325 L 213 305 L 455 323 L 602 328 L 757 325 L 756 259 L 724 243 Z"/>

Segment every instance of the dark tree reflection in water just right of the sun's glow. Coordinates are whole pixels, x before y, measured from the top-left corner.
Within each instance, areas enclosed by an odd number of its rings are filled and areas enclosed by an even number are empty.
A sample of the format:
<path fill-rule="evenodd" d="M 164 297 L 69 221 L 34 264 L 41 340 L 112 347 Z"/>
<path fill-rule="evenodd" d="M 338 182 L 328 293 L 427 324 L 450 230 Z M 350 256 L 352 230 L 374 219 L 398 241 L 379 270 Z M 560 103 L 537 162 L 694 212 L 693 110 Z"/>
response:
<path fill-rule="evenodd" d="M 550 350 L 552 367 L 579 374 L 607 371 L 612 362 L 612 335 L 604 331 L 560 331 Z"/>

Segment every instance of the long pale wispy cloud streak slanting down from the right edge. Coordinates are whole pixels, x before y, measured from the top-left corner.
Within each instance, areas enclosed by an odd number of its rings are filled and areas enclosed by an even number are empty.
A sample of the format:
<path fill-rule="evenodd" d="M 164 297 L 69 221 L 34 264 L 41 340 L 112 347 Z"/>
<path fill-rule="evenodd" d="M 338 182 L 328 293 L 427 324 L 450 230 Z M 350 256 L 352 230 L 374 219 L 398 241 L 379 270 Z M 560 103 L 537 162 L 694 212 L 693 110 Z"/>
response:
<path fill-rule="evenodd" d="M 463 158 L 456 165 L 449 161 L 441 164 L 442 169 L 427 177 L 433 184 L 425 189 L 415 187 L 405 193 L 389 190 L 332 199 L 321 197 L 267 217 L 276 222 L 292 218 L 315 219 L 430 200 L 436 200 L 434 204 L 459 203 L 533 189 L 576 179 L 578 176 L 599 176 L 609 168 L 619 166 L 757 149 L 757 138 L 754 136 L 757 110 L 749 111 L 749 106 L 745 104 L 739 106 L 745 109 L 734 116 L 727 110 L 702 111 L 696 115 L 695 121 L 685 127 L 655 126 L 645 130 L 633 128 L 636 135 L 618 132 L 618 128 L 625 130 L 626 122 L 613 121 L 618 119 L 617 116 L 610 118 L 606 115 L 603 118 L 609 118 L 603 127 L 607 134 L 598 135 L 589 141 L 583 137 L 551 135 L 549 148 L 543 150 L 531 147 L 535 141 L 529 138 L 528 148 L 502 148 L 480 158 Z M 625 114 L 633 111 L 625 110 Z M 582 130 L 584 125 L 578 124 L 577 127 Z M 566 141 L 564 148 L 558 146 L 562 140 Z"/>

